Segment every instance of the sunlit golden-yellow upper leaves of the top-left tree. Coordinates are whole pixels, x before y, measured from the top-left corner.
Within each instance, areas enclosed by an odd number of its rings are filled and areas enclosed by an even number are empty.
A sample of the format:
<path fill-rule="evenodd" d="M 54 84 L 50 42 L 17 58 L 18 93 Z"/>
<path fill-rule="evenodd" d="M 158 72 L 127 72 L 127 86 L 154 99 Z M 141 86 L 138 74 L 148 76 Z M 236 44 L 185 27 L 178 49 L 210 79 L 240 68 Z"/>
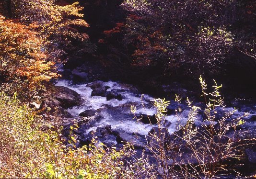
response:
<path fill-rule="evenodd" d="M 88 27 L 88 23 L 82 20 L 83 9 L 78 2 L 70 5 L 59 6 L 55 0 L 15 0 L 19 8 L 15 11 L 16 17 L 26 24 L 35 23 L 37 30 L 46 37 L 51 35 L 70 35 L 82 40 L 88 38 L 87 34 L 72 32 L 74 26 Z"/>

